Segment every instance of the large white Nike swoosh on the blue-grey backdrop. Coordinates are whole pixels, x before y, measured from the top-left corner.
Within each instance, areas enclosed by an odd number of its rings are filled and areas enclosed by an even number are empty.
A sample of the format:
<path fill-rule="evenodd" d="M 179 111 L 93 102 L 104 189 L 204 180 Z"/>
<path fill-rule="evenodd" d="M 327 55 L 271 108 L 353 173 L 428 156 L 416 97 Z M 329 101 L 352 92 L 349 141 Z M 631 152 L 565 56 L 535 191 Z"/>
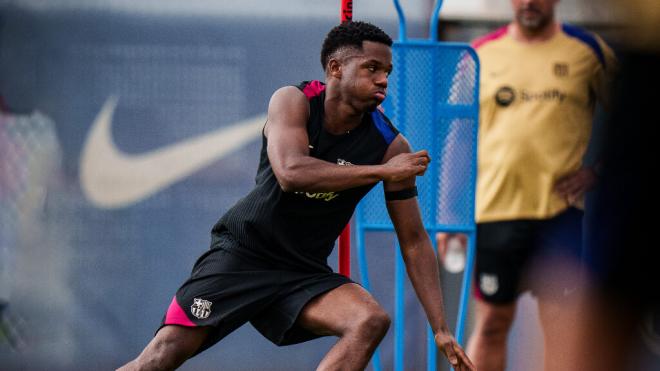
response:
<path fill-rule="evenodd" d="M 80 184 L 100 208 L 141 201 L 243 147 L 261 134 L 266 115 L 138 155 L 123 153 L 112 139 L 111 96 L 94 120 L 80 159 Z"/>

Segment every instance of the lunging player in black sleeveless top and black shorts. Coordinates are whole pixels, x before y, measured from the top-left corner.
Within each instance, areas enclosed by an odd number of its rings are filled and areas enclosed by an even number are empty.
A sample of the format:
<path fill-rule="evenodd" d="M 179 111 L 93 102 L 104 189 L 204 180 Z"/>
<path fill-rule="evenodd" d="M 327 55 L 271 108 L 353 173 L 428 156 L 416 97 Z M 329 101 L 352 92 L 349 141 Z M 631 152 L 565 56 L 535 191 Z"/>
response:
<path fill-rule="evenodd" d="M 318 369 L 364 369 L 390 319 L 366 290 L 333 273 L 327 258 L 358 201 L 380 181 L 436 343 L 455 369 L 474 369 L 447 328 L 417 203 L 415 178 L 430 159 L 411 152 L 378 109 L 393 68 L 391 45 L 371 24 L 344 23 L 323 43 L 325 83 L 273 94 L 255 188 L 215 225 L 211 249 L 153 340 L 123 370 L 174 369 L 246 322 L 277 345 L 337 336 Z"/>

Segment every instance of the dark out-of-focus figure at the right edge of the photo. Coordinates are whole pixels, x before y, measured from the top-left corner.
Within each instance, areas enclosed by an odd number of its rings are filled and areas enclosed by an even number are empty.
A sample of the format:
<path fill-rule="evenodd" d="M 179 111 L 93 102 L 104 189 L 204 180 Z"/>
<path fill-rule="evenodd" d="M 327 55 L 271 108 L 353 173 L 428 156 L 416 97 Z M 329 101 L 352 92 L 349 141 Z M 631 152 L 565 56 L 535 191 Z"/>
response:
<path fill-rule="evenodd" d="M 599 186 L 587 204 L 590 282 L 576 329 L 576 363 L 564 370 L 660 369 L 655 224 L 660 3 L 620 1 L 627 24 L 613 108 L 604 128 Z M 656 191 L 657 192 L 657 191 Z M 657 256 L 657 255 L 656 255 Z"/>

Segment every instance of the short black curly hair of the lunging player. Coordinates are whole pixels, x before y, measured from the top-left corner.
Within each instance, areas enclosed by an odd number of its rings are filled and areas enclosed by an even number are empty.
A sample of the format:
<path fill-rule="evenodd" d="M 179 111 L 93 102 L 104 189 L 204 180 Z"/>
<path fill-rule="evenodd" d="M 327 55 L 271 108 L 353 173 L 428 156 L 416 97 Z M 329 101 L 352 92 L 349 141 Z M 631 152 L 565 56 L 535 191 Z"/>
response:
<path fill-rule="evenodd" d="M 374 41 L 392 46 L 392 38 L 385 31 L 367 22 L 344 22 L 334 27 L 323 41 L 321 65 L 325 70 L 332 55 L 344 47 L 362 50 L 363 41 Z"/>

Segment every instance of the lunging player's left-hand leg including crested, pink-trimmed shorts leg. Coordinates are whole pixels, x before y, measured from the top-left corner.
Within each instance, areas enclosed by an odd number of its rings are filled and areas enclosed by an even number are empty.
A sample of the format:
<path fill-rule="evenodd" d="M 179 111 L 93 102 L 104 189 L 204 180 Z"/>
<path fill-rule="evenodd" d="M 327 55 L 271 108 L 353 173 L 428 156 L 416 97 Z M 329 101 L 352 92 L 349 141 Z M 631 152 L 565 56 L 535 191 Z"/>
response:
<path fill-rule="evenodd" d="M 279 288 L 277 271 L 263 269 L 229 251 L 236 242 L 220 236 L 195 263 L 163 318 L 162 327 L 125 370 L 173 370 L 242 326 L 268 305 Z"/>

